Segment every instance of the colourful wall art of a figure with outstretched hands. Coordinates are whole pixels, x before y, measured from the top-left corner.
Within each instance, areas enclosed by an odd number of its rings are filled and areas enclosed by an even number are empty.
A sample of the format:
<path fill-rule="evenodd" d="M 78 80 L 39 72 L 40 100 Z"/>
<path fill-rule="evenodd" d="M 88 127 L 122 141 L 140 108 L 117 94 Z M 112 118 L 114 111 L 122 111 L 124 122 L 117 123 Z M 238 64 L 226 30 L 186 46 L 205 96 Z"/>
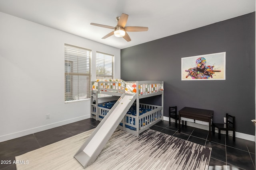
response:
<path fill-rule="evenodd" d="M 226 52 L 181 58 L 181 80 L 226 80 Z"/>

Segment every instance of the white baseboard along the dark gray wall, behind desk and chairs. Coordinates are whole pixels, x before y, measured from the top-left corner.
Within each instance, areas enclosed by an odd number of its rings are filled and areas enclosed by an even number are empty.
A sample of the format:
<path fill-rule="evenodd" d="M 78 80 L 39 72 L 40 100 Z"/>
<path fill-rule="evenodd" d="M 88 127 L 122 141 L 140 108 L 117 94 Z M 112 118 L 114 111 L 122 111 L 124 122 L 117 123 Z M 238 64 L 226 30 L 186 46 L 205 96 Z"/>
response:
<path fill-rule="evenodd" d="M 169 117 L 166 117 L 164 116 L 164 120 L 166 121 L 169 121 Z M 171 118 L 171 121 L 172 122 L 175 122 L 174 119 Z M 191 126 L 191 127 L 196 127 L 198 129 L 204 129 L 204 130 L 207 130 L 209 129 L 208 126 L 206 125 L 201 125 L 201 124 L 198 124 L 198 123 L 192 123 L 192 122 L 187 122 L 187 126 Z M 218 133 L 218 131 L 216 130 L 215 132 Z M 226 131 L 221 131 L 220 132 L 221 134 L 226 134 Z M 232 132 L 229 131 L 229 134 L 228 135 L 232 135 Z M 255 136 L 254 135 L 248 135 L 248 134 L 245 134 L 245 133 L 240 133 L 240 132 L 236 132 L 236 137 L 237 138 L 240 138 L 240 139 L 246 139 L 248 141 L 254 141 L 255 142 Z"/>

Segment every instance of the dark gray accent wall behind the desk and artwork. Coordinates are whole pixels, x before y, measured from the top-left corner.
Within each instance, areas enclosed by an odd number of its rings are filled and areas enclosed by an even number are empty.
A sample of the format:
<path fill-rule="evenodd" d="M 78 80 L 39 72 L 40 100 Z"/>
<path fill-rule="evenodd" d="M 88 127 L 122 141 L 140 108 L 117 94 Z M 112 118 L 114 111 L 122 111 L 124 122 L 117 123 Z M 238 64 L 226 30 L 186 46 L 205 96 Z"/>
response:
<path fill-rule="evenodd" d="M 220 52 L 226 80 L 181 80 L 182 57 Z M 255 135 L 255 12 L 122 49 L 121 78 L 164 81 L 164 116 L 169 106 L 214 110 L 216 123 L 230 113 L 237 132 Z"/>

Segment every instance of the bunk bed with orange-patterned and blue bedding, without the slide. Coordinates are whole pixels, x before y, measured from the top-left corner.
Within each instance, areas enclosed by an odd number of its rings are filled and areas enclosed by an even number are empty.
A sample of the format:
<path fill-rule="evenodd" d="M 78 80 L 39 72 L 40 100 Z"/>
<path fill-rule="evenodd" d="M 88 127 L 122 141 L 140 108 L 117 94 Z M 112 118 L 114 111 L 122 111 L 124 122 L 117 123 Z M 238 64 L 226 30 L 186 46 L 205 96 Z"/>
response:
<path fill-rule="evenodd" d="M 92 82 L 91 90 L 91 118 L 101 121 L 110 111 L 119 96 L 123 93 L 135 94 L 136 101 L 120 122 L 118 128 L 138 136 L 143 131 L 163 120 L 163 93 L 162 81 L 134 81 L 127 82 L 121 79 L 99 79 Z M 99 98 L 100 95 L 111 97 Z M 161 97 L 161 106 L 142 104 L 140 100 L 152 96 Z M 113 98 L 115 100 L 113 100 Z"/>

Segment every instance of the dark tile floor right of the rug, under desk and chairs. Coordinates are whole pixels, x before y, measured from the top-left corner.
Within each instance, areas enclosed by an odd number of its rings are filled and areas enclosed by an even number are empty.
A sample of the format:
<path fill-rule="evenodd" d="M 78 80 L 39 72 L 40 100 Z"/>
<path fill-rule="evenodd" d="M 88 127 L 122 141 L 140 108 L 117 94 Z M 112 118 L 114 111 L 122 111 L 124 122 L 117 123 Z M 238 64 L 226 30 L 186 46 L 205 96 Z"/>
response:
<path fill-rule="evenodd" d="M 209 142 L 208 131 L 187 126 L 178 133 L 175 123 L 170 126 L 168 121 L 161 121 L 150 129 L 212 148 L 208 170 L 255 170 L 255 143 L 252 141 L 236 138 L 234 142 L 226 135 L 221 135 L 219 140 L 215 133 Z"/>

